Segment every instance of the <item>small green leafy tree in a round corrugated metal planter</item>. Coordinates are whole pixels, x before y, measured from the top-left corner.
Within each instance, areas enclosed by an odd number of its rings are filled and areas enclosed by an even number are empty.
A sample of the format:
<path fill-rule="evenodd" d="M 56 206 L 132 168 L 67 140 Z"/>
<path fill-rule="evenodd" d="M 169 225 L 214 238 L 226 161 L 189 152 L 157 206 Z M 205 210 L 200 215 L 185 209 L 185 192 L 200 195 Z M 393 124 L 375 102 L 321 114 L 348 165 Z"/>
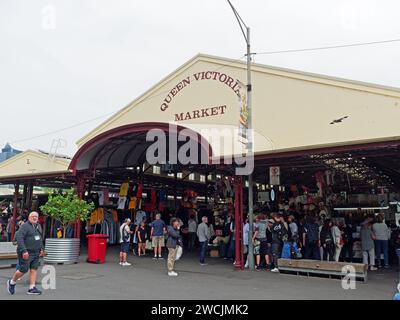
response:
<path fill-rule="evenodd" d="M 47 263 L 77 263 L 80 239 L 66 238 L 69 224 L 86 221 L 93 211 L 93 203 L 87 203 L 73 193 L 58 193 L 49 196 L 47 203 L 40 207 L 45 215 L 59 221 L 63 230 L 62 238 L 47 238 L 44 261 Z"/>

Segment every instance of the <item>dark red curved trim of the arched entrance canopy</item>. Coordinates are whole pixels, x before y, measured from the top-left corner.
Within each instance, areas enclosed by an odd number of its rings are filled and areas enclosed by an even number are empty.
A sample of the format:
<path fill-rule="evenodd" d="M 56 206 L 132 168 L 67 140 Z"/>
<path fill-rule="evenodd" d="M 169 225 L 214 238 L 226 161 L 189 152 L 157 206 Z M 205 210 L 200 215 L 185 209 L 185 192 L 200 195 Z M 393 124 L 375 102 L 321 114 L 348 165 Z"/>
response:
<path fill-rule="evenodd" d="M 98 136 L 94 137 L 93 139 L 89 140 L 86 142 L 74 155 L 70 165 L 69 169 L 72 170 L 74 174 L 77 172 L 77 164 L 79 159 L 85 155 L 89 150 L 94 148 L 96 145 L 99 143 L 102 143 L 108 139 L 115 138 L 118 136 L 122 136 L 125 134 L 129 133 L 135 133 L 135 132 L 143 132 L 143 131 L 149 131 L 151 129 L 160 129 L 166 133 L 174 133 L 174 134 L 179 134 L 180 131 L 182 130 L 189 130 L 193 134 L 193 137 L 196 137 L 198 141 L 200 141 L 201 146 L 204 148 L 204 150 L 208 151 L 208 163 L 211 163 L 211 157 L 213 155 L 212 153 L 212 148 L 210 144 L 207 142 L 205 138 L 203 138 L 199 133 L 180 126 L 180 125 L 173 125 L 172 129 L 176 129 L 174 131 L 176 132 L 170 132 L 170 124 L 169 123 L 162 123 L 162 122 L 141 122 L 141 123 L 135 123 L 135 124 L 129 124 L 129 125 L 124 125 L 121 127 L 117 127 L 114 129 L 111 129 L 109 131 L 103 132 L 99 134 Z"/>

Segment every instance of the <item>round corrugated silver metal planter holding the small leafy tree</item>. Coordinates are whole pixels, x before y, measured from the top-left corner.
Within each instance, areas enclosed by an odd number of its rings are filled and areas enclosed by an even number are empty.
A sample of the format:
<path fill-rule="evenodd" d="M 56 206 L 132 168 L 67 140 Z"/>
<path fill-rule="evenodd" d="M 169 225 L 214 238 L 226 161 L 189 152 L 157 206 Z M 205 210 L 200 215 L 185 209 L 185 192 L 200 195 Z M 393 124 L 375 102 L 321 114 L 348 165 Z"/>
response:
<path fill-rule="evenodd" d="M 79 239 L 46 239 L 44 257 L 45 263 L 77 263 L 79 260 Z"/>

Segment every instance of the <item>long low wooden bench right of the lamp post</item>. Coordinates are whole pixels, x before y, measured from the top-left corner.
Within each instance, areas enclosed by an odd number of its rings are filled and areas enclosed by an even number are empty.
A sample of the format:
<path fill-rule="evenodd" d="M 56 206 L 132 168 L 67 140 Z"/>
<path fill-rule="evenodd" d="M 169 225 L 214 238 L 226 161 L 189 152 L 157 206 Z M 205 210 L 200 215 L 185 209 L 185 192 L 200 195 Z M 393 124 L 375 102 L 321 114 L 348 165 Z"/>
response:
<path fill-rule="evenodd" d="M 310 275 L 327 275 L 329 278 L 340 277 L 347 275 L 347 270 L 350 266 L 351 270 L 355 271 L 355 280 L 367 281 L 368 265 L 363 263 L 335 262 L 335 261 L 320 261 L 320 260 L 291 260 L 278 259 L 278 269 L 280 272 L 296 273 Z"/>

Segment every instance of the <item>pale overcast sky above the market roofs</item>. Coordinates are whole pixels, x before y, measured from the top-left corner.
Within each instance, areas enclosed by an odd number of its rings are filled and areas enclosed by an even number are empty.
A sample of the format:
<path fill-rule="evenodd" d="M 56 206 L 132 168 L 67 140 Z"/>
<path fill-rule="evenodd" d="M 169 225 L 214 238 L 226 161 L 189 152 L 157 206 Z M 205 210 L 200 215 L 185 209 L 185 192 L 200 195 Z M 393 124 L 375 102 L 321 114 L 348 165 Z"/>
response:
<path fill-rule="evenodd" d="M 400 38 L 398 0 L 232 2 L 253 52 Z M 245 53 L 226 0 L 0 0 L 0 39 L 0 146 L 49 150 L 61 138 L 71 156 L 80 137 L 197 53 Z M 400 87 L 400 42 L 255 62 Z"/>

